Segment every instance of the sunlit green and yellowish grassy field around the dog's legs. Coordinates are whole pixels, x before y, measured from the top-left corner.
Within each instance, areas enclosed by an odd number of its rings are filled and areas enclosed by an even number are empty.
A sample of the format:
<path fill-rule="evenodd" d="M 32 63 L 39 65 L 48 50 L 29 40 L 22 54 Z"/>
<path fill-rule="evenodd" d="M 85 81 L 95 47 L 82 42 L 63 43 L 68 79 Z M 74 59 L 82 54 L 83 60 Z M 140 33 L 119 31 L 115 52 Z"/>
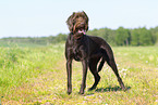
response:
<path fill-rule="evenodd" d="M 66 94 L 64 44 L 49 47 L 0 47 L 0 104 L 17 105 L 157 105 L 158 48 L 113 47 L 119 73 L 127 90 L 120 89 L 106 64 L 94 91 L 80 95 L 82 65 L 73 62 L 73 92 Z"/>

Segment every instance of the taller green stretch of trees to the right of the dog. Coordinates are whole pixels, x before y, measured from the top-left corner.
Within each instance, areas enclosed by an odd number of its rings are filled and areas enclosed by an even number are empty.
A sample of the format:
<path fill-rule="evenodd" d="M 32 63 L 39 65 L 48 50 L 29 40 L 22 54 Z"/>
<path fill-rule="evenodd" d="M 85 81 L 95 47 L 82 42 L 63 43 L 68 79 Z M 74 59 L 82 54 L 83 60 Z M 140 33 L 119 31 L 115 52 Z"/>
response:
<path fill-rule="evenodd" d="M 154 45 L 158 41 L 158 27 L 147 29 L 139 27 L 127 29 L 119 27 L 118 29 L 100 28 L 89 30 L 87 34 L 102 37 L 112 45 Z"/>

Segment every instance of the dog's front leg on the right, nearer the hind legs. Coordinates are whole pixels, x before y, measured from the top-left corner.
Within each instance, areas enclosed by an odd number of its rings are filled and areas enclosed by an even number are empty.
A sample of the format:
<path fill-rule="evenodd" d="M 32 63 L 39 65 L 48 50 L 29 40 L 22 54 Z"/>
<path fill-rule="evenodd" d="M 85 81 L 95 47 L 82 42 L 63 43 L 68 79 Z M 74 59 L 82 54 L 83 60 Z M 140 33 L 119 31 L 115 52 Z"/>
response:
<path fill-rule="evenodd" d="M 83 79 L 82 79 L 82 84 L 81 84 L 81 90 L 80 93 L 84 94 L 84 90 L 86 88 L 86 76 L 87 76 L 87 60 L 82 61 L 83 65 Z"/>

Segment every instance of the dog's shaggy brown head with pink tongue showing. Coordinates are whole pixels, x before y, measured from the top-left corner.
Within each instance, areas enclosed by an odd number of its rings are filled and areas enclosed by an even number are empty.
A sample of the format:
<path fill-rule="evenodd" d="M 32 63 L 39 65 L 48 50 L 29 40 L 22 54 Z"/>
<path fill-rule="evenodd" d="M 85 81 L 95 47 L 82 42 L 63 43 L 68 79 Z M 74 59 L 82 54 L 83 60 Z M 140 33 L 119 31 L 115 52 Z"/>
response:
<path fill-rule="evenodd" d="M 88 16 L 83 12 L 73 12 L 68 18 L 69 30 L 74 35 L 85 35 L 88 30 Z"/>

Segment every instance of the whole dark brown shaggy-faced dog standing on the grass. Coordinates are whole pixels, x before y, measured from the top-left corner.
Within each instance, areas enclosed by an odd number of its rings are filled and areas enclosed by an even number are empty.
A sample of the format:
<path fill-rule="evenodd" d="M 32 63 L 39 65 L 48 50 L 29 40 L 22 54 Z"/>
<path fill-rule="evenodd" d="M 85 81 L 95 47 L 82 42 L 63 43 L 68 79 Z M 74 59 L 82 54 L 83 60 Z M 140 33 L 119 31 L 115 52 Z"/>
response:
<path fill-rule="evenodd" d="M 88 16 L 82 12 L 73 12 L 73 14 L 66 21 L 70 35 L 68 36 L 65 42 L 65 58 L 66 58 L 66 74 L 68 74 L 68 94 L 72 93 L 72 61 L 82 62 L 83 66 L 83 78 L 80 94 L 84 94 L 86 88 L 86 75 L 89 68 L 90 73 L 94 75 L 95 82 L 90 90 L 96 89 L 105 62 L 114 71 L 121 88 L 124 90 L 124 83 L 119 76 L 118 68 L 114 62 L 113 52 L 110 45 L 100 37 L 88 36 L 86 31 L 88 30 Z M 97 68 L 97 65 L 100 64 Z"/>

